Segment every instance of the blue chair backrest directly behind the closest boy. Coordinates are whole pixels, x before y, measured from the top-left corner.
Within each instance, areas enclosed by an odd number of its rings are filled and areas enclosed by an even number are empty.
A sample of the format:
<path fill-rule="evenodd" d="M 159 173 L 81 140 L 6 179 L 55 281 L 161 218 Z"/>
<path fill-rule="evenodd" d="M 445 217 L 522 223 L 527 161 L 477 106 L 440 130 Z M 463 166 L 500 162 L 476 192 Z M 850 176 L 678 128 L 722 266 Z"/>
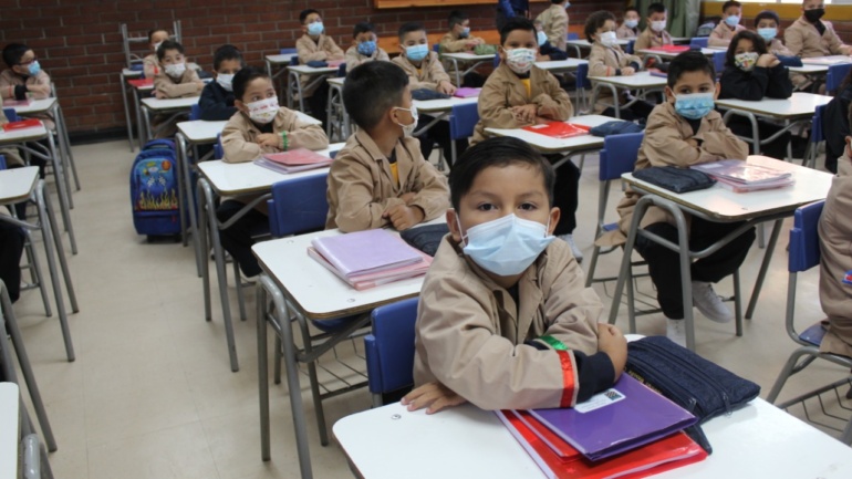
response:
<path fill-rule="evenodd" d="M 414 323 L 418 298 L 373 310 L 373 332 L 364 337 L 367 382 L 373 394 L 414 384 Z"/>

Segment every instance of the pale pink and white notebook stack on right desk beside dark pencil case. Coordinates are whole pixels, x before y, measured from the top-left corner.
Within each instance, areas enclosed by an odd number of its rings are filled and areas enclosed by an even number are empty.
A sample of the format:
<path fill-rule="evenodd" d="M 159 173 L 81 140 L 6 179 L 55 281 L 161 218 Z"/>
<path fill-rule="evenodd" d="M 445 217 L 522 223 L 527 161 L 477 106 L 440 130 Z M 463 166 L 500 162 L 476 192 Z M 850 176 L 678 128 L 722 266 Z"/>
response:
<path fill-rule="evenodd" d="M 704 163 L 693 169 L 710 175 L 723 188 L 734 192 L 783 188 L 796 183 L 792 174 L 739 159 Z"/>

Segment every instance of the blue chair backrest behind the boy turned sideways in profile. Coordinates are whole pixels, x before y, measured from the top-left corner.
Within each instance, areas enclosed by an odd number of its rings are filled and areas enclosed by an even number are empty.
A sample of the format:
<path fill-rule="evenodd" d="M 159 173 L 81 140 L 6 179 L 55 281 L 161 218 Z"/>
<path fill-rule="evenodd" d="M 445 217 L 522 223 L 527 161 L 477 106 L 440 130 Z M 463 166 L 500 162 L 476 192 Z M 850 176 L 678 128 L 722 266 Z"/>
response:
<path fill-rule="evenodd" d="M 269 206 L 269 232 L 281 238 L 325 227 L 329 201 L 325 198 L 328 174 L 304 176 L 272 185 Z"/>

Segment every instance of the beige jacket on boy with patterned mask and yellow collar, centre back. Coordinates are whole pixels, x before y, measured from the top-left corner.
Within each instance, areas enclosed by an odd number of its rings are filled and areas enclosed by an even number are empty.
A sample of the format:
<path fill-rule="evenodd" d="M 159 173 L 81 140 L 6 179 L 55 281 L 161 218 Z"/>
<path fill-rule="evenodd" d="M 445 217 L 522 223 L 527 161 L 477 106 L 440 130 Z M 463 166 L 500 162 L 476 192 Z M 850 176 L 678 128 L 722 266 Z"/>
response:
<path fill-rule="evenodd" d="M 527 123 L 515 119 L 512 106 L 536 104 L 539 107 L 539 116 L 558 122 L 564 122 L 573 116 L 574 106 L 571 104 L 571 98 L 550 72 L 533 65 L 530 70 L 530 90 L 532 95 L 527 96 L 527 88 L 518 75 L 506 62 L 500 63 L 500 66 L 488 76 L 479 93 L 477 107 L 479 123 L 474 128 L 470 144 L 474 145 L 488 137 L 485 128 L 529 126 Z"/>

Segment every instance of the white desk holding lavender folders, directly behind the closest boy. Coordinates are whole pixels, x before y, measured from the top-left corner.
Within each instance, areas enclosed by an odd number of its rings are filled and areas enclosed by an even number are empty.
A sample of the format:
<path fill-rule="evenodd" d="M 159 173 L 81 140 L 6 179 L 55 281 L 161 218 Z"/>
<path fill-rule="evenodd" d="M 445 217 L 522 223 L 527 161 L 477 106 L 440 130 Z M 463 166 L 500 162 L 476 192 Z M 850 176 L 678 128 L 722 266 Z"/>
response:
<path fill-rule="evenodd" d="M 440 220 L 437 220 L 440 221 Z M 302 407 L 302 389 L 299 384 L 298 363 L 313 364 L 324 352 L 334 344 L 346 340 L 352 332 L 366 325 L 370 321 L 370 312 L 382 304 L 387 304 L 416 296 L 420 292 L 424 277 L 411 278 L 356 291 L 322 267 L 316 260 L 306 253 L 311 240 L 318 237 L 342 235 L 340 230 L 325 230 L 315 233 L 301 235 L 264 241 L 252 247 L 263 273 L 258 288 L 258 378 L 260 394 L 260 438 L 261 457 L 270 459 L 269 441 L 269 375 L 267 355 L 267 322 L 281 337 L 284 347 L 284 364 L 287 372 L 290 407 L 292 408 L 293 428 L 295 434 L 297 450 L 302 479 L 313 477 L 311 470 L 311 457 L 308 445 L 308 430 L 305 425 L 305 412 Z M 267 300 L 274 302 L 274 314 L 266 314 Z M 334 334 L 332 339 L 323 343 L 319 348 L 301 348 L 294 343 L 291 317 L 303 327 L 312 321 L 328 321 L 346 316 L 351 324 L 345 331 Z M 322 409 L 322 399 L 342 394 L 359 387 L 366 386 L 366 378 L 361 373 L 352 372 L 349 379 L 343 381 L 340 389 L 326 389 L 320 394 L 318 382 L 311 383 L 314 402 L 314 413 L 320 425 L 320 440 L 328 444 L 325 431 L 325 418 Z M 352 379 L 354 377 L 354 379 Z M 344 378 L 346 379 L 346 378 Z M 356 383 L 355 383 L 356 381 Z"/>

